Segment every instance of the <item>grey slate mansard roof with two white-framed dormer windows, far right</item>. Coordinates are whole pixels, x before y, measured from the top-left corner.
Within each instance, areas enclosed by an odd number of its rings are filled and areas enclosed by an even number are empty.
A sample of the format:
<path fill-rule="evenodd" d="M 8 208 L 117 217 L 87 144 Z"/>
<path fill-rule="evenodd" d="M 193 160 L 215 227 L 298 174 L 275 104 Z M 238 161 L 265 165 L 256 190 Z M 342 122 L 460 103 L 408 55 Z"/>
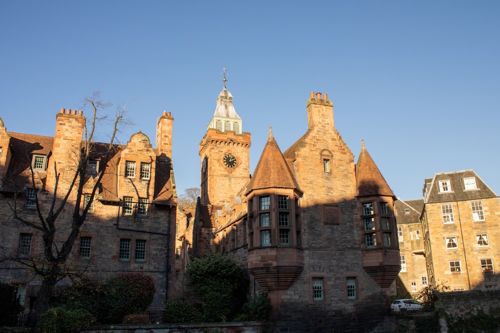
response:
<path fill-rule="evenodd" d="M 463 178 L 474 177 L 477 189 L 465 190 Z M 439 192 L 439 181 L 449 180 L 451 192 Z M 495 192 L 474 172 L 474 170 L 462 170 L 453 172 L 436 173 L 432 178 L 426 178 L 423 185 L 424 196 L 427 189 L 425 203 L 451 202 L 479 200 L 486 198 L 498 198 Z"/>

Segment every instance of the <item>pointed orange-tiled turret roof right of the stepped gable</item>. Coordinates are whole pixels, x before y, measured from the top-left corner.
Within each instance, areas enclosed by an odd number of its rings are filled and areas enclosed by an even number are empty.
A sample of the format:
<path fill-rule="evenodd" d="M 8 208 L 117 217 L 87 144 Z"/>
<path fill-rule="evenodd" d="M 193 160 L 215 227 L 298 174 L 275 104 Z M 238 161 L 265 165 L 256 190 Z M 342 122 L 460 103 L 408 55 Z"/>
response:
<path fill-rule="evenodd" d="M 364 140 L 362 139 L 361 152 L 356 164 L 356 182 L 357 195 L 360 197 L 372 195 L 394 197 L 394 193 L 364 147 Z"/>

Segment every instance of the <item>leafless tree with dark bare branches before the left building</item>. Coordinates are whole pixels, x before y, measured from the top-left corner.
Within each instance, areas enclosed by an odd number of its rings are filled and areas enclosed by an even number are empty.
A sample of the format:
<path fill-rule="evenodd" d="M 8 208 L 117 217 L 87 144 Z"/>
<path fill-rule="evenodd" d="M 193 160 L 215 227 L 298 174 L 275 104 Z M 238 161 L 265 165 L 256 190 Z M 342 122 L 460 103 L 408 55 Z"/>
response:
<path fill-rule="evenodd" d="M 61 182 L 61 173 L 57 169 L 56 162 L 54 162 L 53 165 L 48 166 L 53 168 L 53 174 L 55 175 L 51 195 L 45 196 L 45 198 L 50 198 L 50 200 L 48 203 L 44 202 L 42 204 L 39 200 L 40 194 L 35 192 L 35 217 L 22 214 L 20 206 L 25 198 L 19 196 L 19 191 L 13 191 L 13 200 L 7 203 L 12 211 L 12 218 L 24 226 L 37 230 L 42 238 L 43 254 L 41 256 L 27 258 L 12 256 L 9 258 L 24 265 L 41 278 L 42 282 L 39 294 L 34 304 L 34 310 L 38 314 L 43 313 L 48 308 L 49 298 L 58 281 L 67 277 L 79 277 L 85 270 L 85 267 L 75 268 L 74 263 L 70 260 L 68 261 L 68 257 L 71 254 L 80 228 L 85 223 L 87 212 L 94 196 L 98 193 L 106 168 L 113 155 L 117 152 L 117 145 L 114 144 L 116 134 L 120 128 L 131 124 L 130 119 L 126 115 L 127 104 L 128 102 L 116 108 L 114 119 L 112 120 L 112 133 L 110 134 L 108 143 L 96 144 L 94 142 L 96 126 L 106 119 L 100 113 L 109 108 L 111 104 L 103 102 L 100 99 L 99 92 L 94 92 L 92 95 L 85 97 L 82 108 L 90 108 L 92 115 L 85 121 L 83 129 L 84 138 L 79 149 L 72 152 L 73 156 L 71 158 L 74 161 L 74 168 L 70 172 L 69 181 L 66 182 L 64 180 L 64 184 Z M 96 156 L 100 159 L 100 168 L 97 177 L 93 179 L 90 175 L 88 164 Z M 31 164 L 29 171 L 30 183 L 35 188 L 35 172 Z M 65 177 L 67 177 L 67 171 Z M 91 178 L 93 181 L 89 182 Z M 88 191 L 89 184 L 90 191 Z M 90 197 L 82 205 L 84 187 L 85 193 L 89 194 Z M 58 191 L 61 193 L 58 193 Z M 64 211 L 68 207 L 71 209 L 71 213 L 65 214 Z M 69 215 L 70 217 L 68 217 Z M 70 221 L 66 219 L 70 219 Z M 65 227 L 62 228 L 62 225 Z"/>

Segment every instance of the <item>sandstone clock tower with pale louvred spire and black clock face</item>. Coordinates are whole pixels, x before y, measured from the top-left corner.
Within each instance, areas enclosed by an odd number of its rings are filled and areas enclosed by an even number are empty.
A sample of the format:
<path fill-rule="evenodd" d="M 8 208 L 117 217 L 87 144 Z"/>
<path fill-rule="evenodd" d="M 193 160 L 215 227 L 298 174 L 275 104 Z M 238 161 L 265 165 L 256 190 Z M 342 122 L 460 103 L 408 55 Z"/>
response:
<path fill-rule="evenodd" d="M 224 88 L 217 97 L 215 113 L 199 143 L 202 205 L 220 206 L 237 195 L 250 178 L 250 133 L 242 132 L 242 119 Z"/>

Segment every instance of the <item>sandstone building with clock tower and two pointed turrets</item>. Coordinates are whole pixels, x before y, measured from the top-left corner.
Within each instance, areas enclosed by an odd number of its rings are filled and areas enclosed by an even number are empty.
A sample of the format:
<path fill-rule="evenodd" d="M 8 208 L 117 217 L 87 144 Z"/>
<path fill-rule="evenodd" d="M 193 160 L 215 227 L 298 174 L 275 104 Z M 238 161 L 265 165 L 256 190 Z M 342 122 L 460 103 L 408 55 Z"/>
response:
<path fill-rule="evenodd" d="M 239 260 L 278 326 L 359 329 L 388 312 L 400 269 L 395 198 L 364 143 L 355 164 L 326 94 L 310 94 L 305 119 L 306 133 L 283 152 L 269 130 L 250 176 L 251 136 L 224 86 L 199 144 L 201 195 L 194 217 L 179 219 L 177 259 Z"/>

